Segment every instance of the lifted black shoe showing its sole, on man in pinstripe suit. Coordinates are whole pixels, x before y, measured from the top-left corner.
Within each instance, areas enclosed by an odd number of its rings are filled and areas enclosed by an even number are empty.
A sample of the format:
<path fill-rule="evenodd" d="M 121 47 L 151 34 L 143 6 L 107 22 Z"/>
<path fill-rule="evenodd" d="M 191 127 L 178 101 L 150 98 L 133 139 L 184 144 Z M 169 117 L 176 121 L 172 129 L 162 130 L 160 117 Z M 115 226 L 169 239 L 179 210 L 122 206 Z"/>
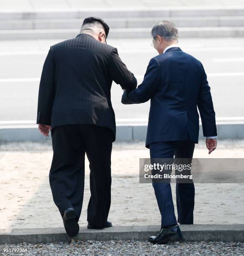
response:
<path fill-rule="evenodd" d="M 64 211 L 63 214 L 63 225 L 66 233 L 70 237 L 74 237 L 79 233 L 78 218 L 73 207 L 69 207 Z"/>

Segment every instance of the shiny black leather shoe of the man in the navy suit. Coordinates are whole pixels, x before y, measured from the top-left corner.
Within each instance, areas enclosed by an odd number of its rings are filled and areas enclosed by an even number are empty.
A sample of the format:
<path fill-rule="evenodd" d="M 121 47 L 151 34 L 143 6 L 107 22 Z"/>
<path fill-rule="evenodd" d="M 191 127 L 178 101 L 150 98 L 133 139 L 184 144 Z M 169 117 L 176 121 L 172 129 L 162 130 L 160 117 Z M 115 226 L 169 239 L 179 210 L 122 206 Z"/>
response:
<path fill-rule="evenodd" d="M 148 240 L 153 244 L 165 244 L 169 241 L 179 241 L 182 238 L 183 237 L 180 227 L 178 225 L 175 225 L 174 227 L 169 229 L 162 228 L 158 236 L 150 236 Z"/>

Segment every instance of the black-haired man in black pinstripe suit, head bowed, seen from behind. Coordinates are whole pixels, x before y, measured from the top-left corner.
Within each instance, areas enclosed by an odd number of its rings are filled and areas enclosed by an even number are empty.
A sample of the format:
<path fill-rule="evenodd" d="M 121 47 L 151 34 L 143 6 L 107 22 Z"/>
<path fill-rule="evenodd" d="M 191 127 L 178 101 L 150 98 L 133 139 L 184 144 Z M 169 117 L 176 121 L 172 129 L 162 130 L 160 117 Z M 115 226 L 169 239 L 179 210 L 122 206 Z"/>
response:
<path fill-rule="evenodd" d="M 53 200 L 69 236 L 78 234 L 83 203 L 85 153 L 90 162 L 88 228 L 111 227 L 111 150 L 116 137 L 111 104 L 112 81 L 133 90 L 137 81 L 117 49 L 106 44 L 109 27 L 89 17 L 80 33 L 50 47 L 43 65 L 37 124 L 51 131 L 49 173 Z"/>

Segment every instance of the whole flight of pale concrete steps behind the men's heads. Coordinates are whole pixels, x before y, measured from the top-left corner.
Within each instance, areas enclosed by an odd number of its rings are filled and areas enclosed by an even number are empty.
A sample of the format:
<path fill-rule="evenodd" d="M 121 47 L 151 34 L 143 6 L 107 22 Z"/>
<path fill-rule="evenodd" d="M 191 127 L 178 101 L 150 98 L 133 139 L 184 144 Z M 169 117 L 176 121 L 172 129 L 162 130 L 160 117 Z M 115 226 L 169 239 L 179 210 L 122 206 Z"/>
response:
<path fill-rule="evenodd" d="M 110 38 L 150 37 L 160 20 L 179 27 L 180 37 L 242 37 L 244 8 L 161 8 L 110 10 L 0 11 L 0 40 L 70 38 L 83 18 L 99 16 L 112 28 Z"/>

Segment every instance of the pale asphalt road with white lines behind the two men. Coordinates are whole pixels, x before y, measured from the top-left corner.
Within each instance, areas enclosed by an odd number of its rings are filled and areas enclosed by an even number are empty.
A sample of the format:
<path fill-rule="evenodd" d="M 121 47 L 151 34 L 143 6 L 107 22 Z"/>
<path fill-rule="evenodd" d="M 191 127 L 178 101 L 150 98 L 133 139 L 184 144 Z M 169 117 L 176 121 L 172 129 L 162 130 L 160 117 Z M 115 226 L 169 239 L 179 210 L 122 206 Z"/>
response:
<path fill-rule="evenodd" d="M 39 79 L 50 45 L 63 40 L 0 41 L 0 122 L 36 120 Z M 151 39 L 108 39 L 127 67 L 143 79 L 157 55 Z M 244 117 L 244 38 L 184 38 L 181 49 L 199 59 L 208 74 L 217 118 Z M 149 102 L 121 104 L 121 87 L 113 84 L 116 118 L 147 118 Z"/>

